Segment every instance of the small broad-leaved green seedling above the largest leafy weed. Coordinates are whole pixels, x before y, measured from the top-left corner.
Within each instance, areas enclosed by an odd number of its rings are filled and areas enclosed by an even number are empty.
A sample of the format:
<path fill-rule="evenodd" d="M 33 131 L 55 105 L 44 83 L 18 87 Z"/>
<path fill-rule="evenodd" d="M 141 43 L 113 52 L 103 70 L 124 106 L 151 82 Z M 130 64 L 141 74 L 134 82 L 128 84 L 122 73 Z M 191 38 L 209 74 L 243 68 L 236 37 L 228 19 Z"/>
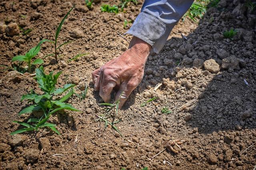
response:
<path fill-rule="evenodd" d="M 30 49 L 30 51 L 28 51 L 28 53 L 26 53 L 25 55 L 17 55 L 13 57 L 12 62 L 14 61 L 26 62 L 28 64 L 28 72 L 31 73 L 31 67 L 33 65 L 44 63 L 42 59 L 35 59 L 33 62 L 32 62 L 32 59 L 39 53 L 40 46 L 45 41 L 49 41 L 49 40 L 47 39 L 41 40 L 36 47 L 33 47 L 32 49 Z"/>

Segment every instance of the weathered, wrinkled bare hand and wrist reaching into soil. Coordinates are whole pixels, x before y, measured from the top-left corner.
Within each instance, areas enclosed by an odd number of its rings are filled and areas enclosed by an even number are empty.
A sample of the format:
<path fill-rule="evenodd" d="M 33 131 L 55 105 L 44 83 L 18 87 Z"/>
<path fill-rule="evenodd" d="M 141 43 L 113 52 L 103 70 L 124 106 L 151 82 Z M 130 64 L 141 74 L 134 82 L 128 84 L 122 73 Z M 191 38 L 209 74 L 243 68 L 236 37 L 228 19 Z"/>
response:
<path fill-rule="evenodd" d="M 148 43 L 133 37 L 129 49 L 122 55 L 92 72 L 94 88 L 100 91 L 100 97 L 104 102 L 110 101 L 114 88 L 118 90 L 115 100 L 120 97 L 119 108 L 122 108 L 143 78 L 150 49 L 151 46 Z"/>

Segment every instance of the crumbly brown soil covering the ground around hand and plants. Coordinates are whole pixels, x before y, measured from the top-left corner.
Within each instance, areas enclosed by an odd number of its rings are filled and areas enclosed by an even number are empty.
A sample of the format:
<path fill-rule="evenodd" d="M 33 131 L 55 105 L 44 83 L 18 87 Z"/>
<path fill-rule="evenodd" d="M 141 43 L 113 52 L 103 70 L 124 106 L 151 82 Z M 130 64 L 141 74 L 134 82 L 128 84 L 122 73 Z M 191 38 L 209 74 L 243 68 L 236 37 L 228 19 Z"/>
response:
<path fill-rule="evenodd" d="M 119 111 L 116 119 L 122 121 L 116 126 L 121 137 L 110 126 L 104 131 L 104 123 L 96 121 L 104 108 L 98 105 L 102 100 L 91 82 L 93 70 L 126 50 L 131 36 L 119 34 L 131 23 L 124 29 L 124 19 L 133 21 L 142 6 L 140 1 L 117 15 L 100 12 L 102 3 L 118 2 L 102 0 L 89 11 L 78 0 L 0 2 L 0 21 L 32 29 L 28 35 L 0 34 L 1 64 L 10 67 L 15 55 L 24 55 L 41 39 L 53 40 L 58 23 L 76 3 L 58 39 L 72 43 L 61 49 L 59 64 L 47 57 L 43 66 L 46 72 L 63 71 L 58 86 L 77 84 L 77 93 L 85 84 L 90 86 L 85 100 L 74 96 L 68 101 L 82 113 L 66 111 L 50 119 L 62 135 L 40 129 L 10 136 L 21 128 L 12 121 L 29 117 L 18 116 L 26 106 L 21 96 L 31 88 L 40 89 L 30 76 L 1 67 L 1 169 L 255 168 L 256 10 L 251 11 L 242 0 L 221 0 L 199 23 L 180 21 L 162 51 L 150 53 L 142 82 Z M 237 35 L 224 39 L 222 32 L 231 27 L 238 30 Z M 53 46 L 44 43 L 38 57 L 52 51 Z M 79 53 L 89 54 L 68 63 Z M 158 83 L 162 86 L 154 90 Z M 140 106 L 152 97 L 157 100 Z M 172 112 L 161 113 L 164 107 Z M 151 160 L 174 139 L 185 140 L 179 154 L 165 150 Z"/>

